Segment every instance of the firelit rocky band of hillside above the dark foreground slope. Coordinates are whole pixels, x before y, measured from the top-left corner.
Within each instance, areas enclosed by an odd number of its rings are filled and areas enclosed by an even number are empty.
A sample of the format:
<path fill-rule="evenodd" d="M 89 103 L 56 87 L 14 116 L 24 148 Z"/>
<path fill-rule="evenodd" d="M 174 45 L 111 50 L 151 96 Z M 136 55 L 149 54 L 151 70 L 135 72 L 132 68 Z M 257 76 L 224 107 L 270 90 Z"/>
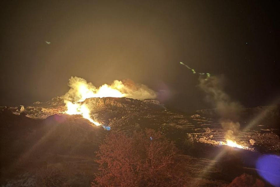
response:
<path fill-rule="evenodd" d="M 88 98 L 92 106 L 91 116 L 110 126 L 112 130 L 130 131 L 137 128 L 154 128 L 170 138 L 184 139 L 189 133 L 194 141 L 221 146 L 225 133 L 215 109 L 198 110 L 194 114 L 168 110 L 154 99 L 143 101 L 131 98 Z M 245 108 L 240 114 L 240 129 L 234 132 L 235 140 L 248 150 L 280 153 L 280 107 Z M 4 108 L 3 108 L 4 109 Z M 3 110 L 2 109 L 2 110 Z M 51 115 L 65 114 L 62 98 L 46 103 L 35 102 L 31 106 L 6 108 L 14 114 L 24 113 L 33 119 L 45 119 Z M 82 116 L 77 116 L 77 118 Z"/>

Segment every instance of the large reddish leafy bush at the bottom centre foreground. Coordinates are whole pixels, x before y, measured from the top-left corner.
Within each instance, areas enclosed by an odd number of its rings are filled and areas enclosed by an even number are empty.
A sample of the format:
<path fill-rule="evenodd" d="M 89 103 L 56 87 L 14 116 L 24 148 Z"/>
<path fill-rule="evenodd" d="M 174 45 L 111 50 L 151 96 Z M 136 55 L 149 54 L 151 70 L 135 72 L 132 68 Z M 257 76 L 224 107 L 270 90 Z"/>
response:
<path fill-rule="evenodd" d="M 110 133 L 97 152 L 101 172 L 92 186 L 183 186 L 175 154 L 174 143 L 152 129 Z"/>

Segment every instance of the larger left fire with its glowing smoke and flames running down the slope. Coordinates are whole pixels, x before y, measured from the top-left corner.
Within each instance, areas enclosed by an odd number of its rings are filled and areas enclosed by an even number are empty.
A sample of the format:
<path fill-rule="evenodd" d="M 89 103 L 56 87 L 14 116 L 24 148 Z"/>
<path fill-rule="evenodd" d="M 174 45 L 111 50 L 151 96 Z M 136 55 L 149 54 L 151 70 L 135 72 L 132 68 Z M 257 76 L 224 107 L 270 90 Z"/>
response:
<path fill-rule="evenodd" d="M 91 108 L 93 106 L 87 106 L 86 103 L 82 103 L 86 98 L 128 97 L 139 100 L 156 98 L 156 93 L 153 90 L 143 84 L 135 84 L 131 80 L 126 80 L 125 82 L 114 80 L 110 85 L 103 84 L 99 88 L 96 88 L 85 79 L 71 77 L 68 86 L 70 90 L 63 96 L 64 103 L 67 107 L 65 113 L 69 115 L 80 114 L 96 126 L 100 126 L 101 124 L 91 117 Z M 106 127 L 107 130 L 109 128 Z"/>

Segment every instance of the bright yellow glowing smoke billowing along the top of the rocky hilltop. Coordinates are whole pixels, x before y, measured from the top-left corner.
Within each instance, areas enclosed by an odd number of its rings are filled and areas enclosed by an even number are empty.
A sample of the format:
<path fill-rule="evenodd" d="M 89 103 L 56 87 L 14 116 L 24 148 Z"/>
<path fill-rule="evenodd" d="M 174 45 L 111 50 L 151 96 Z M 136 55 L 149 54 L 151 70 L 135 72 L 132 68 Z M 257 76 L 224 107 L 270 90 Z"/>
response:
<path fill-rule="evenodd" d="M 146 85 L 135 84 L 132 80 L 114 80 L 112 84 L 103 84 L 96 88 L 83 78 L 71 77 L 68 86 L 70 90 L 63 98 L 71 102 L 81 102 L 92 97 L 128 97 L 139 100 L 156 98 L 156 92 Z"/>

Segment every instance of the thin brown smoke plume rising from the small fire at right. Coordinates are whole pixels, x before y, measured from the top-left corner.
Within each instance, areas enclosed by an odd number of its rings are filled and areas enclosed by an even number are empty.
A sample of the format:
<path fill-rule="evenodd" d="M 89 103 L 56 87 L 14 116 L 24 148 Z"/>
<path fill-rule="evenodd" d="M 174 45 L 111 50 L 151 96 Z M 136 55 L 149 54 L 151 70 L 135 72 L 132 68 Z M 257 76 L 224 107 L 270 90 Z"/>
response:
<path fill-rule="evenodd" d="M 222 76 L 210 76 L 205 79 L 199 77 L 199 87 L 207 93 L 206 99 L 216 108 L 220 117 L 220 123 L 226 130 L 226 139 L 234 140 L 233 133 L 238 131 L 240 124 L 238 122 L 242 106 L 239 102 L 231 100 L 224 91 L 224 78 Z"/>

